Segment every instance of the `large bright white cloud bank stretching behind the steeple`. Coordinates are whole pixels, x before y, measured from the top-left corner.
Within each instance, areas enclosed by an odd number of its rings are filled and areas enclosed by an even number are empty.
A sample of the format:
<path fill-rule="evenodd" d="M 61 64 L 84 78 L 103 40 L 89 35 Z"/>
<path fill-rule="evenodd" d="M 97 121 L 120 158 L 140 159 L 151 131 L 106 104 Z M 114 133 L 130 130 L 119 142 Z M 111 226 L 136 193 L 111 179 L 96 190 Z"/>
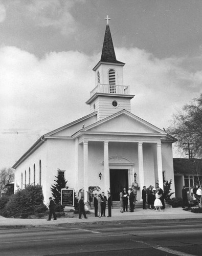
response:
<path fill-rule="evenodd" d="M 116 49 L 116 54 L 126 62 L 124 84 L 136 95 L 131 112 L 161 129 L 177 108 L 201 93 L 202 71 L 183 68 L 186 58 L 159 59 L 138 48 Z M 92 69 L 100 55 L 51 52 L 39 59 L 16 47 L 0 48 L 0 139 L 5 142 L 0 155 L 5 166 L 39 136 L 89 114 L 85 102 L 95 87 Z"/>

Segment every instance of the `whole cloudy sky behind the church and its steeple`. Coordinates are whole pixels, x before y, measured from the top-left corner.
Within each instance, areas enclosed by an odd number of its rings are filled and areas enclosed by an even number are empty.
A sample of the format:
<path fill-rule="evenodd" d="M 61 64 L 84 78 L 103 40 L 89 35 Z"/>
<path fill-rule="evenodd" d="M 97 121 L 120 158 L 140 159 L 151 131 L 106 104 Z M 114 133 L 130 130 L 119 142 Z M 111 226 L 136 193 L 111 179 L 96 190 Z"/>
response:
<path fill-rule="evenodd" d="M 202 93 L 200 0 L 0 0 L 0 170 L 89 114 L 106 15 L 134 115 L 166 129 Z"/>

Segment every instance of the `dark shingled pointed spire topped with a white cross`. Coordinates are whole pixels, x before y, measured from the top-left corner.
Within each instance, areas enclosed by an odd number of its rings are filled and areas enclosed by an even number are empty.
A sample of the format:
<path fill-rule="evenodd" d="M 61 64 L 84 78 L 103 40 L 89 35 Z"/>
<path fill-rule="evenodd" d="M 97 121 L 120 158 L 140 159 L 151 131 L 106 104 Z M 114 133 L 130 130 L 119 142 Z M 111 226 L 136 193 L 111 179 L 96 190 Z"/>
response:
<path fill-rule="evenodd" d="M 105 19 L 107 20 L 107 24 L 106 24 L 104 42 L 103 42 L 103 47 L 102 47 L 102 55 L 101 55 L 100 61 L 112 62 L 112 63 L 122 63 L 122 62 L 118 61 L 116 58 L 113 40 L 111 38 L 111 32 L 109 29 L 108 21 L 110 20 L 110 18 L 107 15 L 107 17 Z"/>

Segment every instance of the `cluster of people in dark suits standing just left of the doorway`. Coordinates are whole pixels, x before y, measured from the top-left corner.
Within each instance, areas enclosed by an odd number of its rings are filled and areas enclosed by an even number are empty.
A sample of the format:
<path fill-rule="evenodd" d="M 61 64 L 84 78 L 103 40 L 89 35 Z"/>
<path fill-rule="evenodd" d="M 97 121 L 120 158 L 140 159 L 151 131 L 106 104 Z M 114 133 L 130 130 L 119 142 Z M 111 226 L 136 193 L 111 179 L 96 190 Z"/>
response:
<path fill-rule="evenodd" d="M 108 216 L 111 217 L 111 206 L 112 206 L 112 199 L 111 195 L 108 192 L 108 198 L 104 195 L 104 192 L 102 194 L 95 194 L 93 198 L 93 205 L 95 209 L 95 217 L 106 217 L 105 211 L 106 211 L 106 204 L 108 206 Z"/>

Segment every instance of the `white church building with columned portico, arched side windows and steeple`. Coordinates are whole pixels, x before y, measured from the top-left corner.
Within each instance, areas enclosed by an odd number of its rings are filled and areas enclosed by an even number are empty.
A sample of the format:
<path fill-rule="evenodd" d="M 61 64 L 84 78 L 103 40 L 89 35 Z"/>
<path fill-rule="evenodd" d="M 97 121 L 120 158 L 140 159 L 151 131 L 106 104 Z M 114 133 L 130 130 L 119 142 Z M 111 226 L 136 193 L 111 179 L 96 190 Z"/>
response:
<path fill-rule="evenodd" d="M 27 184 L 42 186 L 48 202 L 58 168 L 67 185 L 78 193 L 99 186 L 119 201 L 123 187 L 134 177 L 141 190 L 145 185 L 163 188 L 172 180 L 174 191 L 172 143 L 175 141 L 158 127 L 131 113 L 129 86 L 123 81 L 125 63 L 116 59 L 108 25 L 100 61 L 93 69 L 95 88 L 90 92 L 89 114 L 41 136 L 13 165 L 15 190 Z"/>

